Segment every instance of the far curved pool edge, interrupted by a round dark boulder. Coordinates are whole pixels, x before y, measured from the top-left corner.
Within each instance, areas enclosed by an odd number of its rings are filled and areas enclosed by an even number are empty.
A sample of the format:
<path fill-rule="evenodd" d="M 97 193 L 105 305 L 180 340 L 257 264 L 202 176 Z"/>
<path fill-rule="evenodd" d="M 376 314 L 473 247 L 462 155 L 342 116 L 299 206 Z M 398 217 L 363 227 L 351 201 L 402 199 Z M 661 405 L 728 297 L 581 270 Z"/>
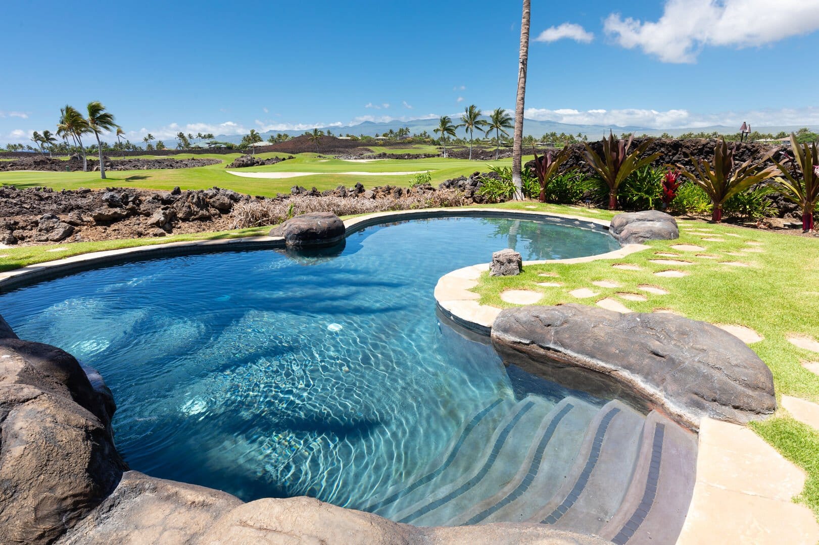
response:
<path fill-rule="evenodd" d="M 552 218 L 567 222 L 567 226 L 583 226 L 600 231 L 608 231 L 609 229 L 609 222 L 597 218 L 583 218 L 569 214 L 553 214 L 534 210 L 459 207 L 375 212 L 356 218 L 348 218 L 344 221 L 344 236 L 350 236 L 366 227 L 372 227 L 373 225 L 382 223 L 411 219 L 464 217 L 508 219 Z M 284 238 L 281 236 L 242 236 L 226 239 L 176 241 L 166 242 L 164 244 L 138 245 L 130 248 L 120 248 L 118 250 L 102 250 L 0 272 L 0 294 L 7 293 L 7 291 L 11 291 L 20 286 L 48 280 L 52 277 L 132 260 L 175 257 L 179 255 L 217 251 L 278 250 L 284 247 Z"/>

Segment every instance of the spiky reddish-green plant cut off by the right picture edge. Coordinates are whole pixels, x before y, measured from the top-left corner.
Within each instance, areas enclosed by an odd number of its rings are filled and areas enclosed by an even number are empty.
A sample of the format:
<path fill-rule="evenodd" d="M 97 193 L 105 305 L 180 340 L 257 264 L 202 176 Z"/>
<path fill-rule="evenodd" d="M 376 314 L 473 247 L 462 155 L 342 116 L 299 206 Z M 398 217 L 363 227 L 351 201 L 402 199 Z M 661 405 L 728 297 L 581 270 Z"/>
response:
<path fill-rule="evenodd" d="M 777 177 L 782 195 L 786 199 L 799 205 L 802 210 L 802 231 L 808 232 L 813 229 L 813 212 L 819 204 L 819 156 L 817 156 L 817 145 L 813 142 L 810 146 L 807 143 L 796 142 L 796 135 L 790 134 L 790 145 L 794 151 L 795 169 L 787 168 L 791 162 L 790 157 L 783 161 L 774 160 L 776 167 L 782 173 L 782 177 Z M 786 155 L 787 156 L 787 155 Z M 799 169 L 802 179 L 796 173 Z"/>

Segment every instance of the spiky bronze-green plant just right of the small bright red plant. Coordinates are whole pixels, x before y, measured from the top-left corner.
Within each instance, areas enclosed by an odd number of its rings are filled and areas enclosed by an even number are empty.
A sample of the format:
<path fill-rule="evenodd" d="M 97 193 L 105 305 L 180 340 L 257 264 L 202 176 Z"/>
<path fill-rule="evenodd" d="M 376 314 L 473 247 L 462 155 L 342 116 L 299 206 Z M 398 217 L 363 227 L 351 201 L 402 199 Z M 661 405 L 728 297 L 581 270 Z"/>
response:
<path fill-rule="evenodd" d="M 765 155 L 759 163 L 753 163 L 753 158 L 751 158 L 735 169 L 735 151 L 736 146 L 729 150 L 725 140 L 720 139 L 714 146 L 713 165 L 707 160 L 695 159 L 690 154 L 688 157 L 694 164 L 694 173 L 691 173 L 682 165 L 677 165 L 683 176 L 702 187 L 711 197 L 713 203 L 711 220 L 713 222 L 722 221 L 722 207 L 725 205 L 726 200 L 759 182 L 773 177 L 777 172 L 775 166 L 766 167 L 763 164 L 763 161 L 767 160 L 770 154 Z"/>

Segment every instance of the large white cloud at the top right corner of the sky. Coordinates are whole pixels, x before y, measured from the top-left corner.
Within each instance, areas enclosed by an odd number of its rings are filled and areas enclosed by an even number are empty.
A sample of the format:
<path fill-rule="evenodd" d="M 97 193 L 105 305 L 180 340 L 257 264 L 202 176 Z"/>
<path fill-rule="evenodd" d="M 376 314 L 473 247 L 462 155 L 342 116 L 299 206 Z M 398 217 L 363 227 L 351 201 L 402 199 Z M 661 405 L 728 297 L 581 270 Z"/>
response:
<path fill-rule="evenodd" d="M 604 23 L 622 47 L 663 62 L 693 63 L 708 46 L 759 47 L 819 29 L 815 0 L 667 0 L 656 22 L 619 13 Z"/>

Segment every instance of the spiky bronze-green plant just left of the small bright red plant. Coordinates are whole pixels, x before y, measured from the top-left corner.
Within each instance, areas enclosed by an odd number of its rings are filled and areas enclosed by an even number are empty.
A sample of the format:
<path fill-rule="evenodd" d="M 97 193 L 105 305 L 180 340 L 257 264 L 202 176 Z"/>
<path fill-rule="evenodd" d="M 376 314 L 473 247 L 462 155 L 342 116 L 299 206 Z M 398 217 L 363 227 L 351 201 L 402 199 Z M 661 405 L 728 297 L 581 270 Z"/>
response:
<path fill-rule="evenodd" d="M 583 142 L 583 146 L 586 146 L 586 160 L 609 187 L 609 209 L 612 210 L 617 208 L 617 192 L 622 182 L 625 182 L 631 173 L 648 166 L 660 156 L 659 153 L 654 153 L 640 159 L 640 155 L 645 152 L 651 141 L 646 140 L 630 151 L 632 142 L 633 134 L 628 141 L 615 142 L 613 133 L 609 131 L 609 138 L 603 139 L 603 158 Z"/>

